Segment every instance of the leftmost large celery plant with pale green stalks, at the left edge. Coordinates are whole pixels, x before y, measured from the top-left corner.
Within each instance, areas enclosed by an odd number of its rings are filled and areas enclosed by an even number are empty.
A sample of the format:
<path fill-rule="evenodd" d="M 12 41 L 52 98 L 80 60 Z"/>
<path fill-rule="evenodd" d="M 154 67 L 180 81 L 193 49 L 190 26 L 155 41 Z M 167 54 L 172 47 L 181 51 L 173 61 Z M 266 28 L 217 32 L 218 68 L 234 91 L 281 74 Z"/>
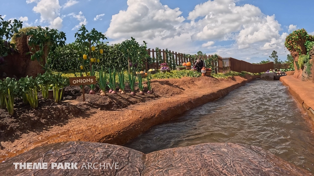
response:
<path fill-rule="evenodd" d="M 4 93 L 4 101 L 7 106 L 7 110 L 9 115 L 13 116 L 14 114 L 14 98 L 18 95 L 19 91 L 19 83 L 15 80 L 15 78 L 6 78 L 3 79 L 1 84 L 1 89 L 5 92 Z"/>

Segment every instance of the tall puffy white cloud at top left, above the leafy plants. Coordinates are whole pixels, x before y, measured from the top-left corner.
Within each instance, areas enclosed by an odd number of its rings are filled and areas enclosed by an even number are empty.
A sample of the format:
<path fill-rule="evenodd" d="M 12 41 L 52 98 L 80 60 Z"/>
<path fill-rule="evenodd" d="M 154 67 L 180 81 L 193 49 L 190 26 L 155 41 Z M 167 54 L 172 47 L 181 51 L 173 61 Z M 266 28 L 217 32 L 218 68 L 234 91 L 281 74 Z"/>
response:
<path fill-rule="evenodd" d="M 62 19 L 60 15 L 59 0 L 27 0 L 27 3 L 36 2 L 37 5 L 33 8 L 35 13 L 40 13 L 40 22 L 49 22 L 51 28 L 61 28 Z"/>

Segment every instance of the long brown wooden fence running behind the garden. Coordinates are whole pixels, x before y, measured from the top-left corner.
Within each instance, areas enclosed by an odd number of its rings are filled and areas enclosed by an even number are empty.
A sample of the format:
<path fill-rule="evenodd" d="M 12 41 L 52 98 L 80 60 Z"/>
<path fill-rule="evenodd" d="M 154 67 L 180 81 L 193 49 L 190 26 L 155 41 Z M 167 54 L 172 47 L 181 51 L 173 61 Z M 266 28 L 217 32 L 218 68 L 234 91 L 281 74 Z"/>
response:
<path fill-rule="evenodd" d="M 196 57 L 191 56 L 186 57 L 185 54 L 183 53 L 177 53 L 170 50 L 166 52 L 165 49 L 163 50 L 160 49 L 159 51 L 156 51 L 154 49 L 152 50 L 148 49 L 147 52 L 151 58 L 161 57 L 160 59 L 163 61 L 163 63 L 165 62 L 168 63 L 169 61 L 168 59 L 170 56 L 171 59 L 173 58 L 176 65 L 182 65 L 182 63 L 184 62 L 185 63 L 191 62 L 193 65 L 196 59 L 202 59 L 203 61 L 205 61 L 212 56 L 212 55 L 198 55 Z M 156 62 L 154 62 L 153 64 L 148 64 L 147 62 L 145 62 L 145 69 L 146 70 L 159 69 L 158 67 L 159 64 L 161 63 L 159 63 L 158 60 L 156 60 Z M 276 66 L 280 66 L 280 68 L 277 69 L 284 69 L 286 65 L 288 64 Z M 218 59 L 212 61 L 212 68 L 215 73 L 226 73 L 230 71 L 236 72 L 246 71 L 251 73 L 261 73 L 276 68 L 274 66 L 275 65 L 273 62 L 269 62 L 267 64 L 251 64 L 243 60 L 237 60 L 231 57 L 224 58 L 221 56 L 218 56 Z"/>

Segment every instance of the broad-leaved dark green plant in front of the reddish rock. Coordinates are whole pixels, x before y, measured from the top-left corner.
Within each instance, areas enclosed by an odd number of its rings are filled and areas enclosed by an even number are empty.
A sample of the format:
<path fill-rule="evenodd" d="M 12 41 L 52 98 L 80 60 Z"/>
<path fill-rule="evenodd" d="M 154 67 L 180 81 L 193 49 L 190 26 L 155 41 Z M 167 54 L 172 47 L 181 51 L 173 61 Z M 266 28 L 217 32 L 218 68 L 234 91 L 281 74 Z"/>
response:
<path fill-rule="evenodd" d="M 56 52 L 57 47 L 63 47 L 67 40 L 65 33 L 57 29 L 37 26 L 26 34 L 30 35 L 28 44 L 31 51 L 27 54 L 32 54 L 31 60 L 36 59 L 44 70 L 51 71 L 54 61 L 59 57 L 59 52 Z"/>

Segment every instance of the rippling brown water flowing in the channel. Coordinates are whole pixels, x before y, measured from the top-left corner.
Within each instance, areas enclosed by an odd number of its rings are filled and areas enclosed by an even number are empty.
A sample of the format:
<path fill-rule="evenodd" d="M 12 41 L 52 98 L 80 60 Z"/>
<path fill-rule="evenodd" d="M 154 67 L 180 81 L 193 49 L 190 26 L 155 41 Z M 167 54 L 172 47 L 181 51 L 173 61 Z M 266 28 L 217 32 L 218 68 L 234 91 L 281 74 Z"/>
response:
<path fill-rule="evenodd" d="M 150 153 L 208 142 L 258 146 L 314 173 L 313 131 L 280 81 L 254 80 L 124 146 Z"/>

